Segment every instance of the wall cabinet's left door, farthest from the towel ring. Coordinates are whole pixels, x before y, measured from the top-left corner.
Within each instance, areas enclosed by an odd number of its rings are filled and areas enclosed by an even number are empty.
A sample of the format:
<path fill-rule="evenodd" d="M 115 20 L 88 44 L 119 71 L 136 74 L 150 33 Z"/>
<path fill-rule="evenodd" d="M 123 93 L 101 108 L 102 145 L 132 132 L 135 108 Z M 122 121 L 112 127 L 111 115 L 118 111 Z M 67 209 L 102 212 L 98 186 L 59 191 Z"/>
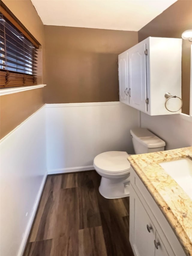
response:
<path fill-rule="evenodd" d="M 128 51 L 118 56 L 119 101 L 128 104 Z"/>

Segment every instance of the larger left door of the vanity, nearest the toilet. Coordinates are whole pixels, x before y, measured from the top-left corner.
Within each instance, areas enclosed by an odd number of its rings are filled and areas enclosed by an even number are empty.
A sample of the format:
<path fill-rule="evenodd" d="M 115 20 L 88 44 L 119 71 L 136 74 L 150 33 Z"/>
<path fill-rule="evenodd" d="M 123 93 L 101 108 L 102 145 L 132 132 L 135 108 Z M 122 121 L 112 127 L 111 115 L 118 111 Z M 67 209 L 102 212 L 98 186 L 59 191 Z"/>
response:
<path fill-rule="evenodd" d="M 154 256 L 155 227 L 131 185 L 129 225 L 129 239 L 134 255 Z"/>

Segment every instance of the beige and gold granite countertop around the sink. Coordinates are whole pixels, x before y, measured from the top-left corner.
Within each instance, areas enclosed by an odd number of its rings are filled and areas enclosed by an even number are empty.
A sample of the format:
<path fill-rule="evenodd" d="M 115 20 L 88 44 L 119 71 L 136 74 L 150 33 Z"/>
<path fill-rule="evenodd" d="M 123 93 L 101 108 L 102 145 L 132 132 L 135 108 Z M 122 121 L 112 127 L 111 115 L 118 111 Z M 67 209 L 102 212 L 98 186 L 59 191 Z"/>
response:
<path fill-rule="evenodd" d="M 185 157 L 192 159 L 192 147 L 131 155 L 128 157 L 187 255 L 192 256 L 192 200 L 158 164 Z"/>

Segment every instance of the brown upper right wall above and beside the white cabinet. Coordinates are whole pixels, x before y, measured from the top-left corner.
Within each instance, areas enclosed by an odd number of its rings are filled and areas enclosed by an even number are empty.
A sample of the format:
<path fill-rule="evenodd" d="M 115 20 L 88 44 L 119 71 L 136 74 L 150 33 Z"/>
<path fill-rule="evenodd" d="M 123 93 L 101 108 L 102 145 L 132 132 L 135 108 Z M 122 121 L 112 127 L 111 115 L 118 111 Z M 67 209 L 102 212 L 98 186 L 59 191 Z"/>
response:
<path fill-rule="evenodd" d="M 184 30 L 192 28 L 192 1 L 179 0 L 138 32 L 139 42 L 154 37 L 181 38 Z M 183 40 L 182 46 L 182 112 L 189 114 L 190 103 L 190 45 Z M 163 53 L 162 53 L 163 54 Z"/>

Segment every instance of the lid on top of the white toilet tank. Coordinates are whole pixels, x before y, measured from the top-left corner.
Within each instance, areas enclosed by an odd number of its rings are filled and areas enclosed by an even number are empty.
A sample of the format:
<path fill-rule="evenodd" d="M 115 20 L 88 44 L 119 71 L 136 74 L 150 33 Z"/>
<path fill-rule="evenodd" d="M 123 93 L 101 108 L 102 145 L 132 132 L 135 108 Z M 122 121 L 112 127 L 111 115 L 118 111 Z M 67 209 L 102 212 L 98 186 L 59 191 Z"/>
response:
<path fill-rule="evenodd" d="M 160 148 L 165 146 L 165 142 L 151 133 L 146 128 L 134 128 L 130 130 L 131 135 L 147 148 Z"/>

